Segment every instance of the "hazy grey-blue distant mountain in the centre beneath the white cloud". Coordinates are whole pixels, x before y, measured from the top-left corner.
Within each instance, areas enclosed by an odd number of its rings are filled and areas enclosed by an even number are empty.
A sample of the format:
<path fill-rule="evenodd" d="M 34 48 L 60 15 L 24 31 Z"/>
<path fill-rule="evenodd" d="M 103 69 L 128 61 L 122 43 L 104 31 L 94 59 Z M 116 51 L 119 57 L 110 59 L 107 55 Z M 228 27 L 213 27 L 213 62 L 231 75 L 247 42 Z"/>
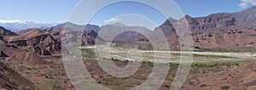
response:
<path fill-rule="evenodd" d="M 138 38 L 148 35 L 151 32 L 152 31 L 148 30 L 148 28 L 142 26 L 128 26 L 117 23 L 113 25 L 103 25 L 100 37 L 106 41 L 134 42 Z"/>

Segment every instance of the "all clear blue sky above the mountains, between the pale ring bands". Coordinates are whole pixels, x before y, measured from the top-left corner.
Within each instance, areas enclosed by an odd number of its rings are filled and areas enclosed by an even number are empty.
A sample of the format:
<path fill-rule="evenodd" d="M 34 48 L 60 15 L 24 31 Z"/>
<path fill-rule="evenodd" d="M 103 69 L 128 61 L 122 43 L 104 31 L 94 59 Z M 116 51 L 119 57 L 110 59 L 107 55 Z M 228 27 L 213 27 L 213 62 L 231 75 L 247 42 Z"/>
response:
<path fill-rule="evenodd" d="M 0 23 L 20 20 L 63 23 L 68 20 L 69 15 L 79 2 L 80 0 L 4 0 L 1 1 Z M 256 0 L 174 0 L 174 2 L 181 8 L 183 14 L 189 14 L 192 17 L 238 12 L 256 5 Z M 121 17 L 122 14 L 140 14 L 156 25 L 160 25 L 166 20 L 160 12 L 150 6 L 139 3 L 116 3 L 99 10 L 92 17 L 90 23 L 104 25 L 109 22 L 117 22 L 120 19 L 116 17 Z"/>

